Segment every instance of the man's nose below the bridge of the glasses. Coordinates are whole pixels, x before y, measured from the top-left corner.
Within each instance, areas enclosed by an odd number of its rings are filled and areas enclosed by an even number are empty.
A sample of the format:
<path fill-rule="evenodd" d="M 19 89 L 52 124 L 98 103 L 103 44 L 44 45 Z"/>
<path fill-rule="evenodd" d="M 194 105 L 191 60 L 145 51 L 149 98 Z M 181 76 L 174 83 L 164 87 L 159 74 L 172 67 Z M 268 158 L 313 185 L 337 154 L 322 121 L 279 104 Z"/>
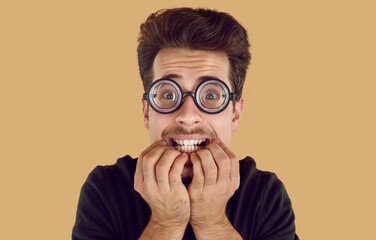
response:
<path fill-rule="evenodd" d="M 202 121 L 201 111 L 197 108 L 192 96 L 186 96 L 177 111 L 176 122 L 179 125 L 194 126 Z"/>

